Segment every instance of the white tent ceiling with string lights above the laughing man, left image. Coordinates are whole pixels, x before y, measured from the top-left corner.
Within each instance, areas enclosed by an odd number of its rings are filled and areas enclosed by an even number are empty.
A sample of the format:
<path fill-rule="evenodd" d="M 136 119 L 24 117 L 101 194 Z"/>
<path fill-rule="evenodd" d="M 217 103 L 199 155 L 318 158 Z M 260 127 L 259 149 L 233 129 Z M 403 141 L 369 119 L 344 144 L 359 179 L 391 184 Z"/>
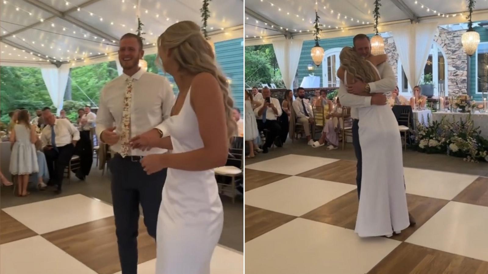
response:
<path fill-rule="evenodd" d="M 242 0 L 212 0 L 212 41 L 243 37 Z M 201 23 L 201 0 L 141 0 L 146 54 L 163 31 L 181 20 Z M 116 57 L 119 38 L 137 31 L 137 0 L 0 0 L 2 65 L 73 65 Z M 83 58 L 83 59 L 82 59 Z"/>

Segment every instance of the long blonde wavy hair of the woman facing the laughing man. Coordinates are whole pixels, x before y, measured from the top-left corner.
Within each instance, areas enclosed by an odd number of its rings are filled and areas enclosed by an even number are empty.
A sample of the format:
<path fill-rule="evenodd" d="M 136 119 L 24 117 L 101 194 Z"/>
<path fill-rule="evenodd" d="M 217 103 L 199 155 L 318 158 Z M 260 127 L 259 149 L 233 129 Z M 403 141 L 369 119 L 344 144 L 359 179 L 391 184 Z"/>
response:
<path fill-rule="evenodd" d="M 172 57 L 181 70 L 197 75 L 207 72 L 219 82 L 224 95 L 225 116 L 227 119 L 227 137 L 232 139 L 237 131 L 233 118 L 234 101 L 229 96 L 229 84 L 213 53 L 212 47 L 203 37 L 200 26 L 192 21 L 180 21 L 169 26 L 158 38 L 158 51 L 172 49 Z"/>

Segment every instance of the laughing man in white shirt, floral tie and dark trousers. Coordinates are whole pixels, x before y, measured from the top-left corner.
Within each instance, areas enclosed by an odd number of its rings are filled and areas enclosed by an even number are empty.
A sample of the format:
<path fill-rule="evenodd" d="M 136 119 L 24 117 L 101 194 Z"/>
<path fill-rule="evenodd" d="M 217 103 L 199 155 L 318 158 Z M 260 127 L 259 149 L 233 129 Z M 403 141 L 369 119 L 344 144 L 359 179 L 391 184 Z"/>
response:
<path fill-rule="evenodd" d="M 119 61 L 123 74 L 105 85 L 100 95 L 96 119 L 99 140 L 111 146 L 116 154 L 108 163 L 111 171 L 119 258 L 123 274 L 137 273 L 137 235 L 139 204 L 147 232 L 156 238 L 156 224 L 166 169 L 147 175 L 140 160 L 149 154 L 166 150 L 131 149 L 130 139 L 141 135 L 162 137 L 163 120 L 170 117 L 174 93 L 163 76 L 145 72 L 139 67 L 142 39 L 134 34 L 122 36 Z"/>

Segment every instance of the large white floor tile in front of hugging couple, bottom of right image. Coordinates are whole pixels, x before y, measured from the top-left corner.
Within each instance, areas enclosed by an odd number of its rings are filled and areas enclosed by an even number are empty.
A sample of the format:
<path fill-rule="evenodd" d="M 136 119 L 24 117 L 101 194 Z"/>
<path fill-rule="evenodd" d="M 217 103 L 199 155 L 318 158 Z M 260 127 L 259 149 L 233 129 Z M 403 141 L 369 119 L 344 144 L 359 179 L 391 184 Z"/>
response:
<path fill-rule="evenodd" d="M 400 244 L 297 218 L 245 244 L 252 274 L 365 274 Z"/>

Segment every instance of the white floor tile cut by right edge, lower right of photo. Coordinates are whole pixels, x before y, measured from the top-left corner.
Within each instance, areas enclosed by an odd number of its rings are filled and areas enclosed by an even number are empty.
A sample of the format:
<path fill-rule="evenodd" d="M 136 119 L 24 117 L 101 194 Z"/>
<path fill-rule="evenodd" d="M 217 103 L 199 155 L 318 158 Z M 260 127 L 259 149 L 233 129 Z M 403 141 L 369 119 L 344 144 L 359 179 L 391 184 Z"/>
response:
<path fill-rule="evenodd" d="M 449 202 L 406 242 L 488 261 L 488 207 Z"/>

